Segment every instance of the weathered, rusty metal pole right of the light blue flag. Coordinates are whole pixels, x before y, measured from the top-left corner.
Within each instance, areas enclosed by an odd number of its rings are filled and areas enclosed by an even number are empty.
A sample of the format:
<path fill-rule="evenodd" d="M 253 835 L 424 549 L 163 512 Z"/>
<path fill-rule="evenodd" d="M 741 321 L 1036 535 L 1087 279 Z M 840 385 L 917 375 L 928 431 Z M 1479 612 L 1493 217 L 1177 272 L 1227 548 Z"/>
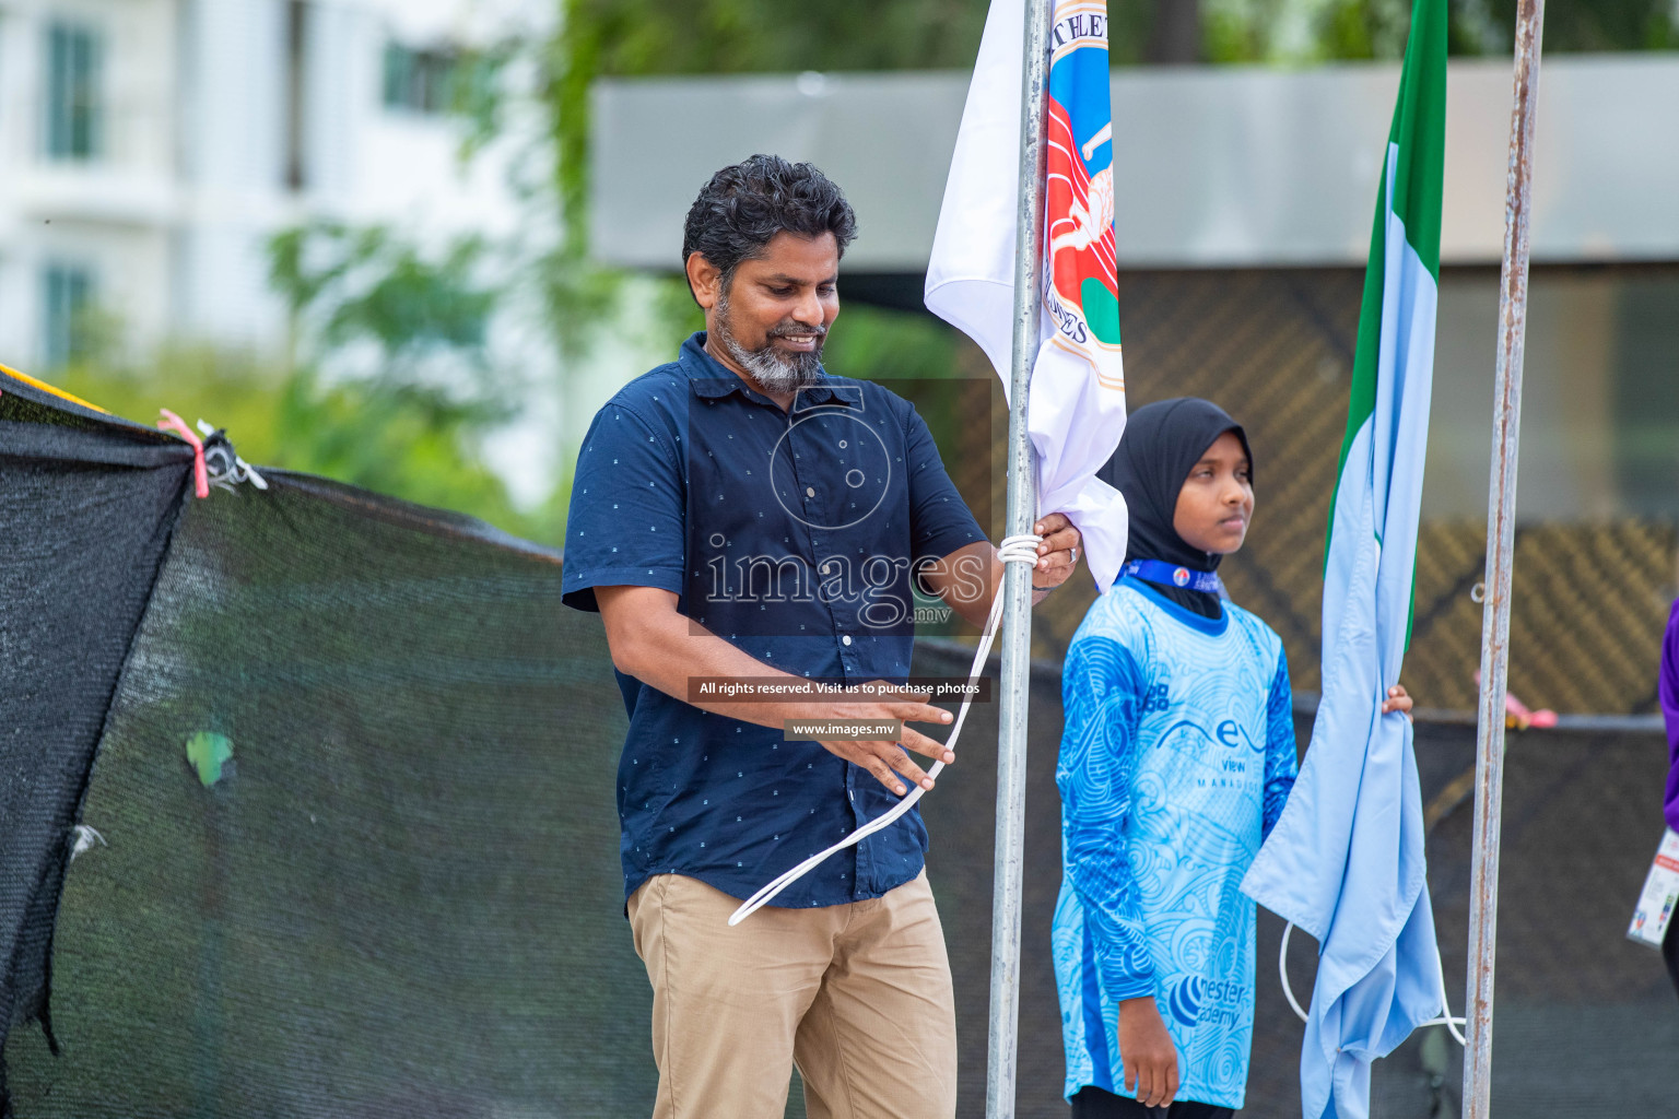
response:
<path fill-rule="evenodd" d="M 1476 735 L 1474 864 L 1469 886 L 1469 995 L 1464 1119 L 1488 1119 L 1493 1096 L 1493 958 L 1498 950 L 1498 832 L 1504 799 L 1504 695 L 1509 676 L 1509 582 L 1516 530 L 1521 357 L 1528 330 L 1528 226 L 1533 121 L 1540 99 L 1545 0 L 1516 10 L 1514 107 L 1504 195 L 1504 267 L 1493 376 L 1493 485 L 1486 513 L 1486 607 L 1481 619 L 1481 711 Z"/>

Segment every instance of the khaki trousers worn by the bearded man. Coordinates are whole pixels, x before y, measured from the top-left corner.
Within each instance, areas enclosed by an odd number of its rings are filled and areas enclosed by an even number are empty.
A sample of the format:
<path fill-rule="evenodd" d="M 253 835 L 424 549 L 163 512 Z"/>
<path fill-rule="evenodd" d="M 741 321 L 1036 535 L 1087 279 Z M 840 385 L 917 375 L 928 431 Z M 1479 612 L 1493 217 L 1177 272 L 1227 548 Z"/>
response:
<path fill-rule="evenodd" d="M 781 1119 L 791 1065 L 811 1119 L 952 1119 L 955 998 L 927 872 L 813 909 L 660 874 L 630 898 L 653 983 L 653 1119 Z"/>

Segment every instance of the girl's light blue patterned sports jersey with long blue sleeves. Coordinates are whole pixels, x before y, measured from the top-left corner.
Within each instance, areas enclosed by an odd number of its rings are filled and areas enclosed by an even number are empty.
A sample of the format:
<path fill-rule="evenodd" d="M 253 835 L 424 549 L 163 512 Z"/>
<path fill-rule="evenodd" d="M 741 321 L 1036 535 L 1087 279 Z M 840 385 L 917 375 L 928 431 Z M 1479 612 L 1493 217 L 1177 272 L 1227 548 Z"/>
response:
<path fill-rule="evenodd" d="M 1123 1094 L 1118 1003 L 1153 995 L 1177 1099 L 1241 1107 L 1254 1020 L 1254 903 L 1242 874 L 1295 783 L 1276 632 L 1122 579 L 1073 634 L 1054 970 L 1066 1094 Z"/>

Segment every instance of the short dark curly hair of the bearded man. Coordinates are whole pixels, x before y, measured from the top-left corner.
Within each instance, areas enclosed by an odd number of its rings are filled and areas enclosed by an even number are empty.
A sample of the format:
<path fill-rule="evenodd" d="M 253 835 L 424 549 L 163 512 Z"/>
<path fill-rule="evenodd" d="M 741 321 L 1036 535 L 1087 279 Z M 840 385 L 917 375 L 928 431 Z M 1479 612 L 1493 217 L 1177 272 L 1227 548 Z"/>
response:
<path fill-rule="evenodd" d="M 724 273 L 762 255 L 776 233 L 833 233 L 840 255 L 856 238 L 856 215 L 833 180 L 809 163 L 752 156 L 712 176 L 682 226 L 682 267 L 700 253 Z"/>

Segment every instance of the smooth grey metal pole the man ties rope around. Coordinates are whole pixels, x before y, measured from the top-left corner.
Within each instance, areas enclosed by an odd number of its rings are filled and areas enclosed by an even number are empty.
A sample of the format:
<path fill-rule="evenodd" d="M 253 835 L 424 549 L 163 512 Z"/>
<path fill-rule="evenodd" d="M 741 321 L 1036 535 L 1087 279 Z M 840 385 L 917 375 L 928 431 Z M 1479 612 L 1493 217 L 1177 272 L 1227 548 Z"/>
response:
<path fill-rule="evenodd" d="M 1021 81 L 1021 210 L 1014 235 L 1014 364 L 1009 369 L 1006 535 L 1033 530 L 1038 485 L 1026 431 L 1028 381 L 1038 356 L 1039 258 L 1044 232 L 1044 94 L 1049 82 L 1049 0 L 1026 0 Z M 1021 1012 L 1021 869 L 1026 856 L 1026 700 L 1033 639 L 1033 569 L 1004 564 L 1002 679 L 997 705 L 997 852 L 991 901 L 991 1040 L 986 1117 L 1014 1116 L 1016 1027 Z"/>

